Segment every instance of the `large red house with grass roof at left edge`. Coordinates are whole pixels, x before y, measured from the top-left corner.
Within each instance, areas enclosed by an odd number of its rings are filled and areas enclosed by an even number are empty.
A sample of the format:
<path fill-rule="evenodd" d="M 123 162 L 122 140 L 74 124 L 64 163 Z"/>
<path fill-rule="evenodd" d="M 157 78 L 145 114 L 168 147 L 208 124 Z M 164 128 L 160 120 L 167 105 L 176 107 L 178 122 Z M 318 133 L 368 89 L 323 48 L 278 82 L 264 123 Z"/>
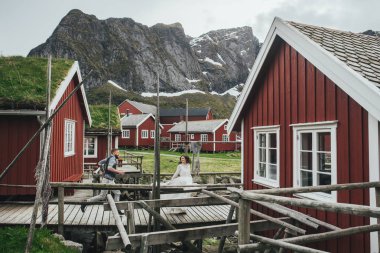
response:
<path fill-rule="evenodd" d="M 27 67 L 26 67 L 27 66 Z M 0 58 L 0 171 L 14 159 L 40 128 L 45 118 L 47 59 Z M 55 110 L 80 83 L 78 62 L 55 59 L 52 62 L 52 100 Z M 11 82 L 12 85 L 9 85 Z M 91 116 L 83 86 L 63 106 L 53 120 L 50 147 L 52 182 L 83 173 L 84 123 Z M 37 138 L 0 180 L 1 184 L 35 185 L 35 168 L 42 142 Z M 0 187 L 1 196 L 33 195 L 33 188 Z"/>

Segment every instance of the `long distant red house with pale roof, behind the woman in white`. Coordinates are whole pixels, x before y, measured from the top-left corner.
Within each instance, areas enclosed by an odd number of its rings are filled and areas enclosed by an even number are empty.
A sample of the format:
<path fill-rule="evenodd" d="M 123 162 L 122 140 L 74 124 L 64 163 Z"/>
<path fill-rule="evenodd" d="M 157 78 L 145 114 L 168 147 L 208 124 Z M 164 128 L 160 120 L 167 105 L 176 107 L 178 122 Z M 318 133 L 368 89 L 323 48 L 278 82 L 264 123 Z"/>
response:
<path fill-rule="evenodd" d="M 236 134 L 227 133 L 227 119 L 181 121 L 168 130 L 171 147 L 176 148 L 186 142 L 201 141 L 202 151 L 220 152 L 237 150 L 240 146 Z"/>

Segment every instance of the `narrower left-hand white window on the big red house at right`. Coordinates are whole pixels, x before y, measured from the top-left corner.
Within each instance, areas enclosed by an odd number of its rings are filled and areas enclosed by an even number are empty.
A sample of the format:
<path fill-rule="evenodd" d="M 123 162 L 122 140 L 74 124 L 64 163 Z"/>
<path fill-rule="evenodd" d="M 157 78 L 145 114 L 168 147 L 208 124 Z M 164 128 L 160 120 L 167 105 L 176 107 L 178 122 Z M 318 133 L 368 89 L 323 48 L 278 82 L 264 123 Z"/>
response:
<path fill-rule="evenodd" d="M 256 183 L 280 186 L 280 127 L 254 128 L 254 178 Z"/>

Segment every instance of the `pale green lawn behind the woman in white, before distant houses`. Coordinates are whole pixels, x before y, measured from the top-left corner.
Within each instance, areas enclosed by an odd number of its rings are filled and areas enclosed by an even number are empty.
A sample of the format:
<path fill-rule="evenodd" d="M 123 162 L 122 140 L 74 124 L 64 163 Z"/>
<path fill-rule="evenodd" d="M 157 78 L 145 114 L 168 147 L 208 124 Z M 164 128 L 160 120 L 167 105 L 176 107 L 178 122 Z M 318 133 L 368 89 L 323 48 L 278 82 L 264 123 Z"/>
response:
<path fill-rule="evenodd" d="M 143 155 L 143 169 L 145 173 L 154 171 L 153 150 L 128 150 L 129 153 Z M 161 173 L 174 173 L 179 157 L 182 153 L 161 150 L 160 170 Z M 189 154 L 192 159 L 192 154 Z M 200 154 L 201 172 L 240 172 L 240 152 L 226 152 L 216 154 Z"/>

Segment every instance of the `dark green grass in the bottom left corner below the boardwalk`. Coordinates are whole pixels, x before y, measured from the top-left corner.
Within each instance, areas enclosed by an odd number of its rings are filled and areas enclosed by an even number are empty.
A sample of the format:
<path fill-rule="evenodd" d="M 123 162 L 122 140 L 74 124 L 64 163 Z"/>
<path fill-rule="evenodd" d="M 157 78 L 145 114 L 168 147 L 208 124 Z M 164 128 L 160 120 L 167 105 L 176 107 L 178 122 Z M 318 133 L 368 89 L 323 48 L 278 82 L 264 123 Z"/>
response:
<path fill-rule="evenodd" d="M 28 229 L 24 227 L 0 228 L 0 252 L 22 253 L 25 251 Z M 47 229 L 37 229 L 34 234 L 32 253 L 74 253 L 66 248 L 58 238 L 53 237 Z"/>

